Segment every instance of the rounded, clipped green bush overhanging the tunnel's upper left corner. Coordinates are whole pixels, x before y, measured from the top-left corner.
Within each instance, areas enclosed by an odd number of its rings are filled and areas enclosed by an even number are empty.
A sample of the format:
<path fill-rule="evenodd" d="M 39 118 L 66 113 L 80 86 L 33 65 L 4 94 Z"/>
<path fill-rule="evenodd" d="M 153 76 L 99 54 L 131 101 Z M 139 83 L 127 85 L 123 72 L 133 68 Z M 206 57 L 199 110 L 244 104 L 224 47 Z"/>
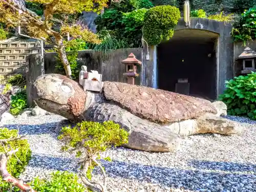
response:
<path fill-rule="evenodd" d="M 144 16 L 143 37 L 149 45 L 158 45 L 174 35 L 174 28 L 180 18 L 180 11 L 173 6 L 157 6 Z"/>

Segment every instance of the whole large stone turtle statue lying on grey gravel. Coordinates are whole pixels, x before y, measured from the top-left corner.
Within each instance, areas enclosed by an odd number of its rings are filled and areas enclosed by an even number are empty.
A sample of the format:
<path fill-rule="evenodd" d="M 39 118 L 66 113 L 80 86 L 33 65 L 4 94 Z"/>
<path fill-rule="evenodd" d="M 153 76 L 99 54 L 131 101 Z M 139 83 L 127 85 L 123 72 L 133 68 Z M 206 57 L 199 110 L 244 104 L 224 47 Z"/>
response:
<path fill-rule="evenodd" d="M 126 147 L 142 151 L 174 151 L 180 136 L 241 132 L 218 117 L 225 111 L 223 103 L 127 83 L 105 81 L 100 93 L 84 92 L 66 76 L 46 74 L 34 81 L 31 93 L 41 109 L 74 123 L 118 123 L 130 133 Z"/>

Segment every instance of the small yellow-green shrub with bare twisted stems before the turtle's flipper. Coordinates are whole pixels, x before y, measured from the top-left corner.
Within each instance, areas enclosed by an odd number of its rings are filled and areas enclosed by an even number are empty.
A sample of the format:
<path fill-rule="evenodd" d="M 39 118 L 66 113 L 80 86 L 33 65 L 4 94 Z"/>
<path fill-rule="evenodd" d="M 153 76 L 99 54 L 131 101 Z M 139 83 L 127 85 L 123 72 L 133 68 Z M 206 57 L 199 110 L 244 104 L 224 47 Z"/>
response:
<path fill-rule="evenodd" d="M 101 167 L 101 172 L 104 177 L 104 168 L 101 166 L 100 153 L 107 148 L 120 146 L 128 142 L 129 133 L 121 129 L 119 124 L 113 121 L 105 121 L 103 123 L 83 121 L 77 123 L 73 128 L 71 126 L 63 127 L 62 134 L 58 139 L 65 141 L 66 145 L 62 150 L 77 151 L 77 157 L 82 157 L 83 171 L 86 172 L 87 179 L 92 178 L 92 170 L 96 165 Z M 105 158 L 110 160 L 110 158 Z M 106 185 L 104 180 L 104 186 Z"/>

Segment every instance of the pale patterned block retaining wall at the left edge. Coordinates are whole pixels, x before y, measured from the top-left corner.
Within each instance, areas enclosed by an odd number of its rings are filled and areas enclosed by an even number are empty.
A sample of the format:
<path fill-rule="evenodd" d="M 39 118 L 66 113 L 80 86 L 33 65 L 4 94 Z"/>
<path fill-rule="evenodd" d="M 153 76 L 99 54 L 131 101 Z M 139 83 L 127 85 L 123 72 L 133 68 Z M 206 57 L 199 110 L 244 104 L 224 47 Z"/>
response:
<path fill-rule="evenodd" d="M 26 57 L 39 52 L 40 45 L 33 39 L 0 41 L 0 75 L 25 73 Z"/>

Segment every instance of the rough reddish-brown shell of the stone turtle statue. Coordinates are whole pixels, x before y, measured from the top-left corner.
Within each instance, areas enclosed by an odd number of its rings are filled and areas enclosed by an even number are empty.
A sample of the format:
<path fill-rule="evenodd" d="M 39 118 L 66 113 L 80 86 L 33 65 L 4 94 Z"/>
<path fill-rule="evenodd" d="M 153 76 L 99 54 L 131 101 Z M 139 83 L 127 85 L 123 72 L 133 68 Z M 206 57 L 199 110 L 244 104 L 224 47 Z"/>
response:
<path fill-rule="evenodd" d="M 164 90 L 104 81 L 104 96 L 132 114 L 162 124 L 217 114 L 211 102 Z"/>

